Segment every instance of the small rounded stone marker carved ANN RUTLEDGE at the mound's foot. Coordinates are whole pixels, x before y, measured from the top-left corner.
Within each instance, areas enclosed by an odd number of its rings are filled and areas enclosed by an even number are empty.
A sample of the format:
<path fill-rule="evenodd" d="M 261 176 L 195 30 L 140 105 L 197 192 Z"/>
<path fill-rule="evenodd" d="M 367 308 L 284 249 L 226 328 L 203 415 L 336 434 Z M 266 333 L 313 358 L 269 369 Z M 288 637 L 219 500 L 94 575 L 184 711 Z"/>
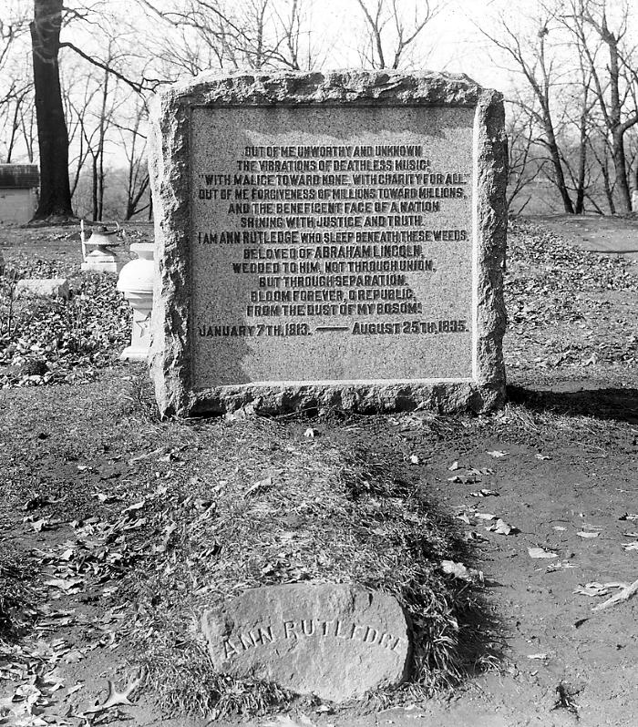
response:
<path fill-rule="evenodd" d="M 330 701 L 405 681 L 406 615 L 386 593 L 346 584 L 250 589 L 204 613 L 214 668 Z"/>

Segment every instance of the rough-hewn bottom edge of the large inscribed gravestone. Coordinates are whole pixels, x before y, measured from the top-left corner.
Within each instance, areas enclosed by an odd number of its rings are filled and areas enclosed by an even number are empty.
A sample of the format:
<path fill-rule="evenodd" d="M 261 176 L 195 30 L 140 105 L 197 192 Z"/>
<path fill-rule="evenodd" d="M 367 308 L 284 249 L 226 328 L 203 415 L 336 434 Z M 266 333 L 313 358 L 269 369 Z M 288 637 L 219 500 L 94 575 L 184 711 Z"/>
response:
<path fill-rule="evenodd" d="M 242 384 L 203 389 L 191 394 L 190 415 L 224 414 L 251 404 L 262 415 L 329 408 L 358 414 L 415 411 L 439 414 L 480 413 L 502 406 L 500 385 L 471 382 L 433 384 L 303 384 L 268 386 Z"/>

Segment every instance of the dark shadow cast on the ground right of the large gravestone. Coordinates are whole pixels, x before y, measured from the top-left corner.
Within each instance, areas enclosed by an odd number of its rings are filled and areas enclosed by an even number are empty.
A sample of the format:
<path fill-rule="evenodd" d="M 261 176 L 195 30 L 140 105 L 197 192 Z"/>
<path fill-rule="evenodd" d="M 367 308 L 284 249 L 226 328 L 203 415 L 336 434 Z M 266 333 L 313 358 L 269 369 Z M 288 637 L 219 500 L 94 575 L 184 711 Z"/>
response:
<path fill-rule="evenodd" d="M 574 385 L 579 386 L 573 391 Z M 508 399 L 536 412 L 593 416 L 597 419 L 638 424 L 638 389 L 584 388 L 571 384 L 569 390 L 532 390 L 523 386 L 508 386 Z"/>

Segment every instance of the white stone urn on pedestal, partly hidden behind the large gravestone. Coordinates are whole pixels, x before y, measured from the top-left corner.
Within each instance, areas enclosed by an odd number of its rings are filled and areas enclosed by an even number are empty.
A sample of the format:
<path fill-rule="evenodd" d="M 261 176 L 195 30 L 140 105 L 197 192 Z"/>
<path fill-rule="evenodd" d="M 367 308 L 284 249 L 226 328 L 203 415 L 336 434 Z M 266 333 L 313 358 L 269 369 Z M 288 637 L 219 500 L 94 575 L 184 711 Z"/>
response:
<path fill-rule="evenodd" d="M 120 271 L 118 291 L 124 294 L 133 309 L 133 328 L 130 345 L 119 358 L 122 361 L 146 361 L 150 345 L 150 313 L 153 309 L 153 278 L 155 245 L 137 242 L 130 246 L 138 258 L 128 262 Z"/>

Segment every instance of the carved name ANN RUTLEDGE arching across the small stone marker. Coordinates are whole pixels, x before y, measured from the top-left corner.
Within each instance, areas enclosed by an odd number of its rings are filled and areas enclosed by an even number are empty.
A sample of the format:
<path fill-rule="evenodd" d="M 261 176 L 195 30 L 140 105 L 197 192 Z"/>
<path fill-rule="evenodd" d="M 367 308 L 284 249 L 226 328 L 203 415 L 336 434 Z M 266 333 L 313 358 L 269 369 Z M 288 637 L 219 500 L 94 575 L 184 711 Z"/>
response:
<path fill-rule="evenodd" d="M 278 626 L 259 626 L 246 632 L 235 633 L 232 638 L 223 640 L 223 649 L 226 659 L 232 659 L 242 651 L 256 646 L 265 646 L 277 640 L 297 640 L 308 638 L 333 638 L 356 640 L 370 646 L 383 649 L 397 650 L 407 644 L 407 640 L 395 637 L 371 626 L 361 624 L 345 624 L 340 619 L 299 619 L 296 621 L 283 621 Z"/>

